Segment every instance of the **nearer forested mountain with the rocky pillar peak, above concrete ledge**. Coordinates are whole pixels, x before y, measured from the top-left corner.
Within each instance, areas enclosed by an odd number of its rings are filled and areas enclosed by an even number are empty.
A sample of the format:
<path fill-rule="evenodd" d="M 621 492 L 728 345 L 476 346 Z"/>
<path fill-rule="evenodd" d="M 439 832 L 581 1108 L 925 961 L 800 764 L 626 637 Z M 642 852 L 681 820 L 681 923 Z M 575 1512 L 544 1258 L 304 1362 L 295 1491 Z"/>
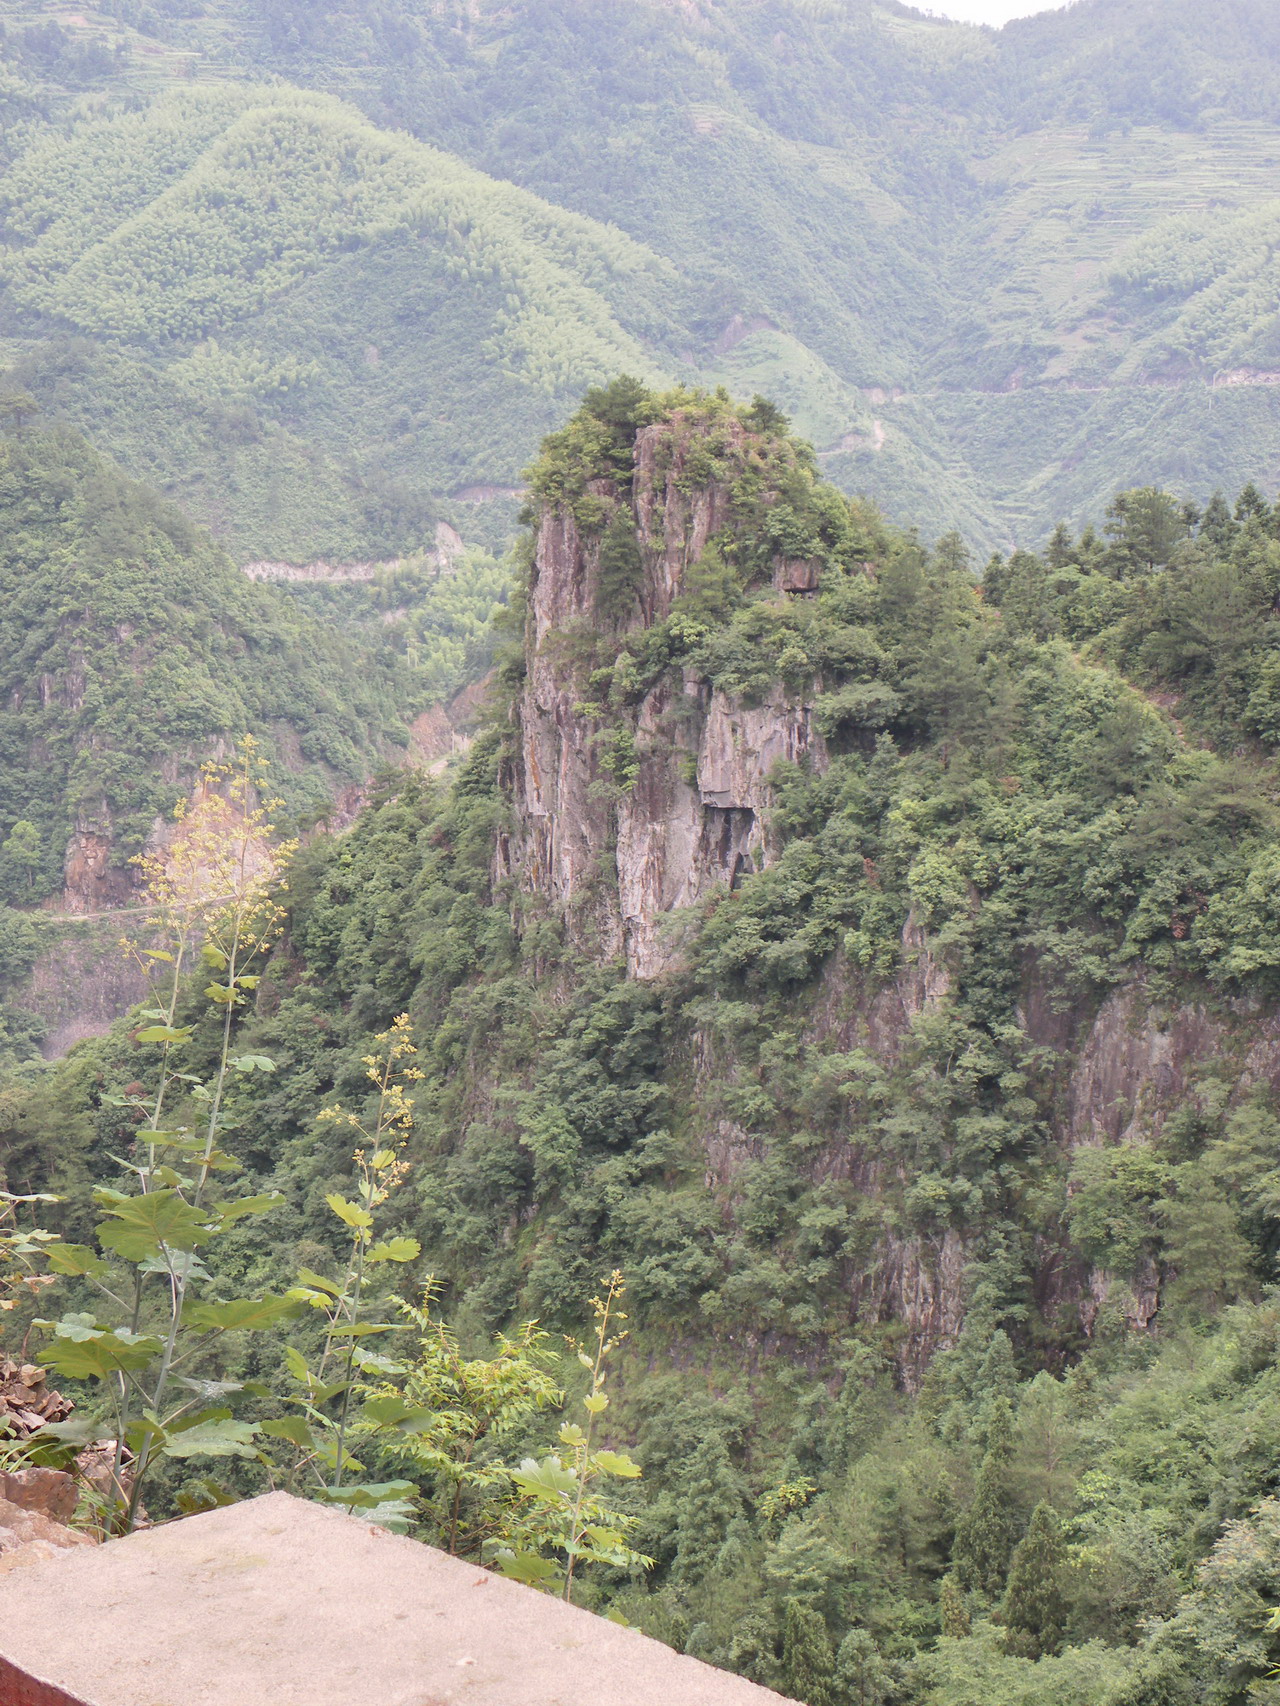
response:
<path fill-rule="evenodd" d="M 271 1462 L 811 1706 L 1266 1701 L 1280 512 L 1135 490 L 980 590 L 770 404 L 635 380 L 529 478 L 456 776 L 10 1073 L 41 1355 L 90 1414 L 154 1370 L 183 1239 L 154 1510 Z"/>

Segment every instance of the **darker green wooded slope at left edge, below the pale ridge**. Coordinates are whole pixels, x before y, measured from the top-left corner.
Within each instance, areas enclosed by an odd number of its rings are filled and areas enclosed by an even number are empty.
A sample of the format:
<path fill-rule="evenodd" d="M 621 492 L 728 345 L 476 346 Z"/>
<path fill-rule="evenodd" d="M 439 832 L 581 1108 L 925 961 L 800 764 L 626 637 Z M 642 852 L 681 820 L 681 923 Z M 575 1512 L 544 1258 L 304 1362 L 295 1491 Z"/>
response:
<path fill-rule="evenodd" d="M 299 775 L 285 778 L 295 809 L 360 776 L 386 739 L 398 713 L 386 669 L 246 580 L 77 433 L 0 440 L 0 517 L 9 902 L 61 884 L 77 826 L 108 834 L 116 865 L 140 853 L 200 759 L 244 728 L 299 737 Z"/>

